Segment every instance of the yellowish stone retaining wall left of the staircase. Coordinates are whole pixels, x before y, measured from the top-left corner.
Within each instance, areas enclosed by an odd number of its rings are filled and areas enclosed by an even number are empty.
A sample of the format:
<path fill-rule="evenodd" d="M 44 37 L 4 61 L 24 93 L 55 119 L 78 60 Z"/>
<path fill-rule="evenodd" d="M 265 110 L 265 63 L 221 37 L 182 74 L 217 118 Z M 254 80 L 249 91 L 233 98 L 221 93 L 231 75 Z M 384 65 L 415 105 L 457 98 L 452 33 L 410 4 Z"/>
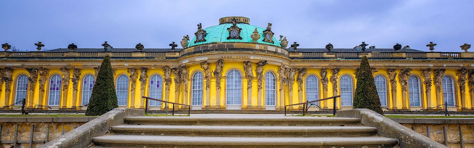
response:
<path fill-rule="evenodd" d="M 95 118 L 1 117 L 0 148 L 12 148 L 12 146 L 14 148 L 30 148 L 30 144 L 32 144 L 32 148 L 36 148 Z M 17 143 L 16 147 L 14 143 Z"/>

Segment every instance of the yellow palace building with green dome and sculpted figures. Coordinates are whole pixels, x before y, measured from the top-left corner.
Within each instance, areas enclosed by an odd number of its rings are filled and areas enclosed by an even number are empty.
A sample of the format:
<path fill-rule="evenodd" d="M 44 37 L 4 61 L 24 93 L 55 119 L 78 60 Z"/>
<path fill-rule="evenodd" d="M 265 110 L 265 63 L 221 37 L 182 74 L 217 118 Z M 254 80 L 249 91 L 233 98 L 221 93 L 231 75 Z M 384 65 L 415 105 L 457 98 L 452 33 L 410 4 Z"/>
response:
<path fill-rule="evenodd" d="M 206 23 L 207 25 L 207 23 Z M 356 74 L 367 56 L 382 105 L 398 110 L 474 111 L 474 52 L 429 52 L 396 44 L 392 48 L 299 48 L 275 36 L 272 24 L 251 25 L 246 17 L 224 17 L 219 24 L 184 36 L 182 48 L 67 48 L 0 52 L 0 106 L 84 110 L 103 57 L 110 55 L 118 105 L 145 108 L 142 96 L 192 105 L 192 110 L 284 110 L 283 106 L 341 95 L 321 108 L 350 109 Z M 278 33 L 277 33 L 278 34 Z M 289 37 L 291 38 L 291 37 Z M 78 47 L 79 46 L 79 47 Z M 290 47 L 288 47 L 290 46 Z M 15 104 L 16 103 L 16 104 Z M 15 104 L 11 105 L 10 104 Z M 150 101 L 161 110 L 161 102 Z M 48 106 L 47 107 L 42 107 Z M 176 108 L 183 109 L 176 106 Z M 299 110 L 302 106 L 292 106 Z"/>

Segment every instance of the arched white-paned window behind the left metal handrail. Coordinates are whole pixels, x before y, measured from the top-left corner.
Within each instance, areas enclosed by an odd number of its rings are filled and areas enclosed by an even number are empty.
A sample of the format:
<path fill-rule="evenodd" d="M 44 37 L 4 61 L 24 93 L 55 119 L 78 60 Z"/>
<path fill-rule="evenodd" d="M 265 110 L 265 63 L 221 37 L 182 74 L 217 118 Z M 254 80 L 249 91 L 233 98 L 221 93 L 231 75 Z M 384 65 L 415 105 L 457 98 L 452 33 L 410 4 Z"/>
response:
<path fill-rule="evenodd" d="M 150 78 L 150 98 L 158 100 L 162 99 L 163 91 L 163 79 L 160 75 L 156 74 Z M 149 100 L 149 106 L 160 106 L 161 102 L 155 100 Z"/>

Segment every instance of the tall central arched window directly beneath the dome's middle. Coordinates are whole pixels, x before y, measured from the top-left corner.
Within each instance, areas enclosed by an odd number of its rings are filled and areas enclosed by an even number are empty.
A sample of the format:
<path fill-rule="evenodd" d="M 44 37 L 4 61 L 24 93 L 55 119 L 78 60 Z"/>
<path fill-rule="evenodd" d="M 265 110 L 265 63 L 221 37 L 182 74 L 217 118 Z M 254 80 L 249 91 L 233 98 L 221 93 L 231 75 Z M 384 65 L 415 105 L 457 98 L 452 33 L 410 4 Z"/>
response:
<path fill-rule="evenodd" d="M 237 70 L 229 71 L 227 73 L 227 104 L 240 105 L 242 100 L 241 92 L 242 75 Z"/>

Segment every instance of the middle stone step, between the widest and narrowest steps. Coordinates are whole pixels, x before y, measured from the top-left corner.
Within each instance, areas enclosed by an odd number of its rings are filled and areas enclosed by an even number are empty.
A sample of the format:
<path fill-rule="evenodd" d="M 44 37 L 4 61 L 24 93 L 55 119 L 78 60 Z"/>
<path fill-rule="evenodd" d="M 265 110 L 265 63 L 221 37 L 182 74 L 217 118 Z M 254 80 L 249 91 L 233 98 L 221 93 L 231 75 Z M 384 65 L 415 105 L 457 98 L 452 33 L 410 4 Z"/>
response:
<path fill-rule="evenodd" d="M 220 137 L 353 137 L 372 136 L 376 128 L 365 126 L 202 126 L 118 125 L 115 134 L 220 136 Z"/>

